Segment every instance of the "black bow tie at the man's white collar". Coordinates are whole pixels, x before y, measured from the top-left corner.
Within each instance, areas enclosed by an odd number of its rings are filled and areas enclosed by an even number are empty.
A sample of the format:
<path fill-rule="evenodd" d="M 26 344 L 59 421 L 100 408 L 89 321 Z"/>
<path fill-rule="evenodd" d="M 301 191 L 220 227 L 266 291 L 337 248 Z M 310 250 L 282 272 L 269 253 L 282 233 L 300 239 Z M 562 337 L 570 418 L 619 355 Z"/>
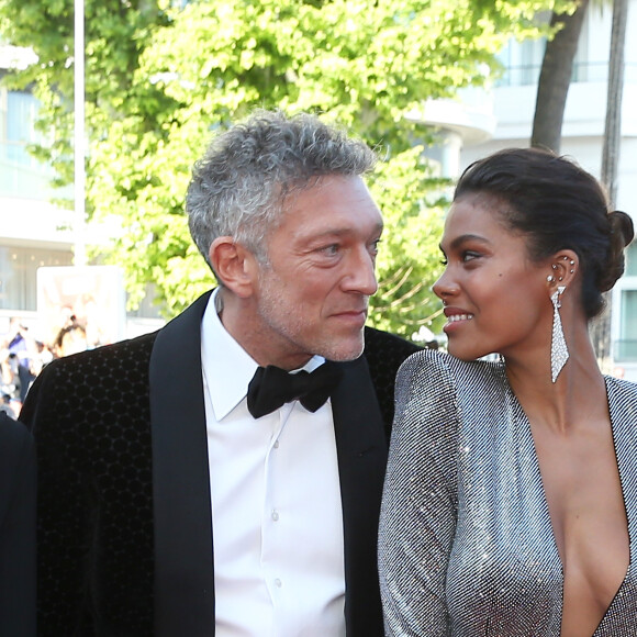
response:
<path fill-rule="evenodd" d="M 325 404 L 340 376 L 340 368 L 334 362 L 324 362 L 312 373 L 304 370 L 289 373 L 273 365 L 259 367 L 248 385 L 248 410 L 259 418 L 299 400 L 308 411 L 315 412 Z"/>

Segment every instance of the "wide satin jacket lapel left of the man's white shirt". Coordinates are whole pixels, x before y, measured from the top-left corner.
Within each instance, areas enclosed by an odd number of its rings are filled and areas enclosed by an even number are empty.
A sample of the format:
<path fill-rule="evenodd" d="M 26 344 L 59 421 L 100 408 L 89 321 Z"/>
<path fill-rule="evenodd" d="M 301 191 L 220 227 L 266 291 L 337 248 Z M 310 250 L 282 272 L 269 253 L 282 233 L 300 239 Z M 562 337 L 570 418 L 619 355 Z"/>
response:
<path fill-rule="evenodd" d="M 200 336 L 209 297 L 158 333 L 150 356 L 157 637 L 214 634 Z"/>

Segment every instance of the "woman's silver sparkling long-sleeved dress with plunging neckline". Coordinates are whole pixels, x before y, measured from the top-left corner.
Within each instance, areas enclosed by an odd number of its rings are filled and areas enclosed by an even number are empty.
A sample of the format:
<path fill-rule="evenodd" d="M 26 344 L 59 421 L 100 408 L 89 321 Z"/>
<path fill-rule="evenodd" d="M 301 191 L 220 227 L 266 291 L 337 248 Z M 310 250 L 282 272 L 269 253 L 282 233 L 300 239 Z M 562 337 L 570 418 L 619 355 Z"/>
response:
<path fill-rule="evenodd" d="M 606 378 L 630 566 L 594 637 L 637 635 L 637 385 Z M 530 426 L 495 362 L 396 381 L 379 569 L 388 635 L 559 637 L 561 563 Z"/>

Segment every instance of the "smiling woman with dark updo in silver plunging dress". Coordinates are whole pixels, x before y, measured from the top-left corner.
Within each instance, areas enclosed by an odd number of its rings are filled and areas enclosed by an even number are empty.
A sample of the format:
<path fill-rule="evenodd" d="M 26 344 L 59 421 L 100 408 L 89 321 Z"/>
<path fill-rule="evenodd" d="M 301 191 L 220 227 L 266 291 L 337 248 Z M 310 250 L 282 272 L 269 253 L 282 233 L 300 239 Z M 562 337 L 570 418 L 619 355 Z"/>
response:
<path fill-rule="evenodd" d="M 588 333 L 633 234 L 563 157 L 506 149 L 461 176 L 434 284 L 451 356 L 396 381 L 388 635 L 635 635 L 637 385 L 601 373 Z"/>

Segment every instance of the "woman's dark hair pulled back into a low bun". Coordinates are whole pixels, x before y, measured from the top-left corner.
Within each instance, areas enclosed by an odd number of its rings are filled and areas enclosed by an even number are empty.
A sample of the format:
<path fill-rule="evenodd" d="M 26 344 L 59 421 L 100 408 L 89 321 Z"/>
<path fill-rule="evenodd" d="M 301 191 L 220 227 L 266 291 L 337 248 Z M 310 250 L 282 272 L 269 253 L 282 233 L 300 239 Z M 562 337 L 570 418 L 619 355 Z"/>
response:
<path fill-rule="evenodd" d="M 534 261 L 573 250 L 584 314 L 592 318 L 602 311 L 603 293 L 624 272 L 624 249 L 634 228 L 625 212 L 608 212 L 606 192 L 592 175 L 550 150 L 505 148 L 471 164 L 454 199 L 477 193 L 493 199 L 505 227 L 525 235 Z"/>

